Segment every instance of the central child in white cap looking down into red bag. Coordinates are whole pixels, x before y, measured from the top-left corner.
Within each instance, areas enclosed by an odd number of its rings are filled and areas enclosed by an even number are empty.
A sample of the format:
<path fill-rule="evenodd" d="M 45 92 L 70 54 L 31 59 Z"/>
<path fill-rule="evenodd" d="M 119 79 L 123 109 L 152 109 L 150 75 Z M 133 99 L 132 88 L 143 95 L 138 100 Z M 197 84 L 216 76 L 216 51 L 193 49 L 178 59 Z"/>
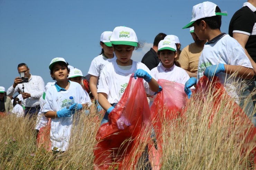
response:
<path fill-rule="evenodd" d="M 117 59 L 103 68 L 98 87 L 98 99 L 101 107 L 106 110 L 101 124 L 108 122 L 108 115 L 121 99 L 130 76 L 135 72 L 134 77 L 144 78 L 146 93 L 150 90 L 157 92 L 159 85 L 150 76 L 150 70 L 141 62 L 131 60 L 132 51 L 138 47 L 138 40 L 133 29 L 128 27 L 116 27 L 113 30 L 110 41 Z M 145 71 L 144 71 L 145 70 Z M 118 125 L 122 127 L 122 125 Z"/>

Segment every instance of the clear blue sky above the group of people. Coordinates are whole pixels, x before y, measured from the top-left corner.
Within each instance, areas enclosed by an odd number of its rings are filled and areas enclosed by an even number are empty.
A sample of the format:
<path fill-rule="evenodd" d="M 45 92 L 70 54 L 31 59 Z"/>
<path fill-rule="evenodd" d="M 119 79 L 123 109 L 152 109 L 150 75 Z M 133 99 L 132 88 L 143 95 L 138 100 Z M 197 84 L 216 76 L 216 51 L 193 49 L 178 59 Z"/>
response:
<path fill-rule="evenodd" d="M 25 62 L 30 73 L 45 84 L 53 80 L 49 63 L 63 57 L 87 74 L 90 63 L 101 51 L 103 31 L 117 26 L 135 30 L 144 48 L 132 59 L 141 61 L 159 32 L 179 37 L 184 48 L 193 39 L 189 29 L 192 7 L 198 0 L 0 0 L 0 86 L 8 89 L 19 76 L 17 66 Z M 244 0 L 212 0 L 228 16 L 221 31 L 228 33 L 232 15 Z"/>

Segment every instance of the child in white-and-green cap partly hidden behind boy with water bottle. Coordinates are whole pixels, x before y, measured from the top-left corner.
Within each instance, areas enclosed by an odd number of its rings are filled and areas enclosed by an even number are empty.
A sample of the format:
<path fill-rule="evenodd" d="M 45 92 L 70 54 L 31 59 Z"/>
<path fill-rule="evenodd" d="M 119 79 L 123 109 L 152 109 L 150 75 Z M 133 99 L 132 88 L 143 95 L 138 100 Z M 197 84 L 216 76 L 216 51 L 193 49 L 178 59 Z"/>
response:
<path fill-rule="evenodd" d="M 82 86 L 82 78 L 85 78 L 85 77 L 83 76 L 83 73 L 81 70 L 76 69 L 76 68 L 70 69 L 70 74 L 68 75 L 68 79 L 70 81 L 77 82 Z M 90 107 L 92 105 L 90 96 L 85 90 L 84 90 L 84 92 L 85 92 L 85 96 L 86 96 L 87 107 Z"/>

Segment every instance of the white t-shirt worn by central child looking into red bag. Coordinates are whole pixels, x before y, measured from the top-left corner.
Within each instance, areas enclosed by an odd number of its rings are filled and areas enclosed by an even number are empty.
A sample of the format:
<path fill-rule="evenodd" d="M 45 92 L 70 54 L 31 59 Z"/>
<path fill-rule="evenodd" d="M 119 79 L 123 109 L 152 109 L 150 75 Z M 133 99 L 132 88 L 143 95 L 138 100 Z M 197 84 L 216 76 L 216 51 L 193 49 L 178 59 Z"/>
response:
<path fill-rule="evenodd" d="M 98 93 L 106 93 L 110 104 L 117 103 L 125 92 L 131 74 L 137 69 L 147 71 L 152 78 L 155 79 L 147 66 L 141 62 L 132 60 L 131 68 L 129 70 L 122 70 L 120 67 L 118 67 L 117 62 L 114 61 L 106 64 L 106 66 L 103 68 L 101 79 L 99 81 Z M 149 89 L 148 83 L 145 80 L 143 80 L 143 82 L 146 93 L 151 95 L 152 93 L 154 94 L 154 92 Z"/>

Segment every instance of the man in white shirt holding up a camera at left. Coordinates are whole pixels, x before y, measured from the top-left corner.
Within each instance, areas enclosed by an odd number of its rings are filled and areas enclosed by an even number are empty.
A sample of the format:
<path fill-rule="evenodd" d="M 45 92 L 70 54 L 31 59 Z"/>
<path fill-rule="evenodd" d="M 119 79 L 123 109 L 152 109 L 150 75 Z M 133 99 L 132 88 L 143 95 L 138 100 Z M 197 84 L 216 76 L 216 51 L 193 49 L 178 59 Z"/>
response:
<path fill-rule="evenodd" d="M 12 96 L 17 91 L 21 91 L 22 104 L 25 106 L 24 116 L 29 115 L 29 119 L 38 114 L 40 110 L 39 98 L 44 93 L 44 80 L 40 76 L 34 76 L 29 73 L 27 64 L 18 65 L 20 77 L 14 79 L 14 83 L 7 90 L 7 96 Z"/>

